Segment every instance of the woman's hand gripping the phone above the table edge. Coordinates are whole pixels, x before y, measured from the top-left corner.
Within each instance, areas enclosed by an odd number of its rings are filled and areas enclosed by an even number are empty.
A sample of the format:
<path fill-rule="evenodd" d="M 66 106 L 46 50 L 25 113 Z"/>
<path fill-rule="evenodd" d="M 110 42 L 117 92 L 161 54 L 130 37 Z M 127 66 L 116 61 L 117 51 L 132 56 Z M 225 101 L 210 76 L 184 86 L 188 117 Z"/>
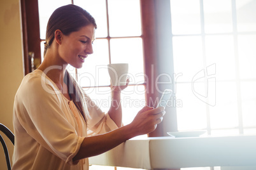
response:
<path fill-rule="evenodd" d="M 154 131 L 165 113 L 164 107 L 143 107 L 130 124 L 136 136 Z"/>

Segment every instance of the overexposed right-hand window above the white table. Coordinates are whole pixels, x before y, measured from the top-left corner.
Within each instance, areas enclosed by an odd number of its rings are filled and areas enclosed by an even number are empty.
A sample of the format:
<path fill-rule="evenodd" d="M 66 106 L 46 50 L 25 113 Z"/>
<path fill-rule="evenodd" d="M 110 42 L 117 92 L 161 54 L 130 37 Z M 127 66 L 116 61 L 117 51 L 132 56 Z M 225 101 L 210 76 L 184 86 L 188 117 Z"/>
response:
<path fill-rule="evenodd" d="M 255 4 L 171 0 L 178 130 L 256 134 Z"/>

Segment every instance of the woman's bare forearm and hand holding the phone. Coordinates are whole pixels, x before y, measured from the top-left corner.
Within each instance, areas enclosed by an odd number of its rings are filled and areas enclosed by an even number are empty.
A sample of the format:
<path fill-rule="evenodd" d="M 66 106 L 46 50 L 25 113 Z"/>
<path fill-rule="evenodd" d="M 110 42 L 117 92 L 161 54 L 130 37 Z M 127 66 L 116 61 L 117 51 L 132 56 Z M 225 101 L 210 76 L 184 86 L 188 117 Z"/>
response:
<path fill-rule="evenodd" d="M 131 124 L 109 133 L 86 137 L 73 161 L 102 154 L 134 136 L 152 132 L 162 121 L 164 113 L 163 107 L 155 109 L 144 107 L 138 112 Z"/>

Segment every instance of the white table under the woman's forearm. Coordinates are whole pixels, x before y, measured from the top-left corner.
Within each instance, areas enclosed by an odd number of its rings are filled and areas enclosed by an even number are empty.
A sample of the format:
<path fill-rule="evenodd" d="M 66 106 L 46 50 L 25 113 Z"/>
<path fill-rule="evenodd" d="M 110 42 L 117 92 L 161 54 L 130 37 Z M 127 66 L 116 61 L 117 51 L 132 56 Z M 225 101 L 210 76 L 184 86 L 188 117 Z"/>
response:
<path fill-rule="evenodd" d="M 134 138 L 89 161 L 142 169 L 256 166 L 256 136 Z"/>

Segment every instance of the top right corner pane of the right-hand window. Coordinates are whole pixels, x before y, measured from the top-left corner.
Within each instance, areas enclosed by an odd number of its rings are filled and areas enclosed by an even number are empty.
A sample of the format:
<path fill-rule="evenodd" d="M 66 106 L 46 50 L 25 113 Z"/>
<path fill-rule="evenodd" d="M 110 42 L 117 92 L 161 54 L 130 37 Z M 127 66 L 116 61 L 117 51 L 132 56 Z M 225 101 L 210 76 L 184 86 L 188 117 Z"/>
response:
<path fill-rule="evenodd" d="M 238 31 L 256 30 L 256 1 L 254 0 L 236 0 L 236 15 L 238 18 Z"/>

